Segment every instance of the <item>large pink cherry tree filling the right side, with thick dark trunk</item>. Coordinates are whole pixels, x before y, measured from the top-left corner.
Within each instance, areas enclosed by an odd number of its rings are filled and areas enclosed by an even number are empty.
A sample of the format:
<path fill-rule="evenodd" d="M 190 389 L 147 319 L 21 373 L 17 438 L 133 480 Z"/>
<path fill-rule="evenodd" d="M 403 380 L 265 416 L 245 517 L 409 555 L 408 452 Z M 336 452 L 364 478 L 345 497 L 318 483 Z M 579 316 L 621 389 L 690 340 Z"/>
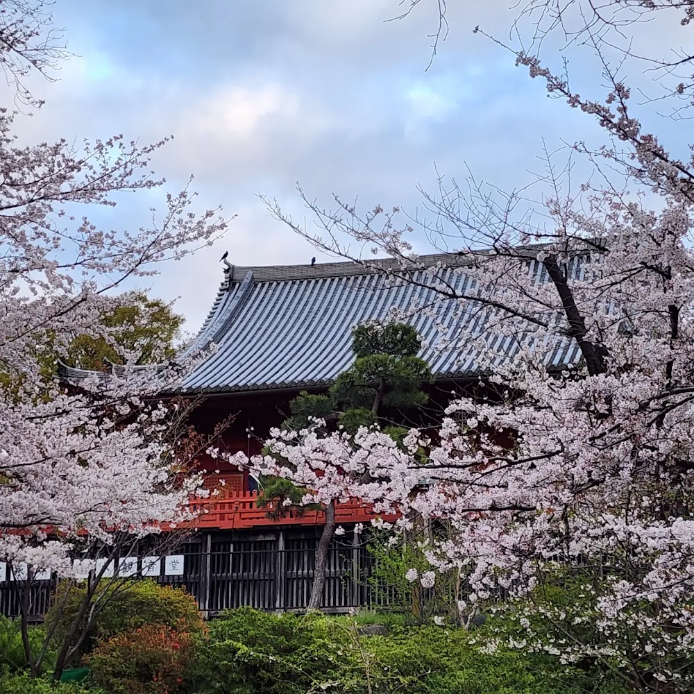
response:
<path fill-rule="evenodd" d="M 559 16 L 564 6 L 586 12 Z M 506 46 L 550 96 L 607 135 L 598 149 L 573 148 L 594 167 L 577 191 L 570 166 L 546 153 L 539 203 L 441 177 L 437 193 L 423 191 L 430 223 L 400 221 L 397 208 L 360 213 L 340 198 L 326 210 L 305 196 L 317 233 L 269 206 L 324 251 L 351 257 L 348 237 L 396 258 L 384 267 L 352 257 L 391 282 L 433 288 L 437 316 L 462 316 L 439 343 L 474 348 L 477 393 L 487 395 L 450 403 L 436 443 L 421 441 L 432 484 L 414 496 L 401 490 L 402 508 L 455 529 L 429 553 L 432 566 L 465 575 L 468 602 L 509 598 L 521 627 L 511 645 L 600 663 L 639 691 L 691 691 L 694 160 L 677 142 L 668 149 L 667 128 L 659 137 L 642 126 L 636 112 L 648 103 L 634 105 L 620 75 L 642 55 L 630 28 L 652 12 L 686 25 L 693 8 L 538 0 L 526 9 L 548 32 L 577 17 L 582 45 L 602 65 L 607 88 L 586 97 L 561 65 Z M 626 37 L 628 50 L 591 17 Z M 677 67 L 691 69 L 691 60 L 684 51 Z M 663 69 L 659 83 L 686 107 L 690 87 L 680 79 Z M 430 266 L 412 251 L 417 226 L 450 264 Z M 513 441 L 500 446 L 491 434 L 508 430 Z M 543 598 L 548 585 L 570 588 L 573 599 Z"/>

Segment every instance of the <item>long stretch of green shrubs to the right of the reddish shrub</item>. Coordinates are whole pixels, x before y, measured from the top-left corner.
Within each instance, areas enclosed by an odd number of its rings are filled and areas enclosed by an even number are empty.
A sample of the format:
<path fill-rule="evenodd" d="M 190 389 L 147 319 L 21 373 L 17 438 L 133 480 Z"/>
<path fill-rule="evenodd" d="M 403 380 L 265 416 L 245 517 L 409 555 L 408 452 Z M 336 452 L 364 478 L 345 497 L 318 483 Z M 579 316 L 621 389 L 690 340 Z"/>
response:
<path fill-rule="evenodd" d="M 200 693 L 628 694 L 547 655 L 482 653 L 475 632 L 403 627 L 405 616 L 391 616 L 389 634 L 364 636 L 364 620 L 228 611 L 198 650 Z"/>

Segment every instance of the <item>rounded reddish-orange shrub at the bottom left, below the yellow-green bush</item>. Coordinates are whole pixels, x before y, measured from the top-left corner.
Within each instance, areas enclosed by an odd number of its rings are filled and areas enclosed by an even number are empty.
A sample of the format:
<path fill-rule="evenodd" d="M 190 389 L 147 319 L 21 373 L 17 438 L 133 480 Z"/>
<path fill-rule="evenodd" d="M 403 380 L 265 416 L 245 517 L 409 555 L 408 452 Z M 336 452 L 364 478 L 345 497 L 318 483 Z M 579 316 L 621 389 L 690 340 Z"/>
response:
<path fill-rule="evenodd" d="M 87 665 L 108 694 L 182 694 L 191 684 L 193 655 L 189 632 L 146 625 L 100 643 Z"/>

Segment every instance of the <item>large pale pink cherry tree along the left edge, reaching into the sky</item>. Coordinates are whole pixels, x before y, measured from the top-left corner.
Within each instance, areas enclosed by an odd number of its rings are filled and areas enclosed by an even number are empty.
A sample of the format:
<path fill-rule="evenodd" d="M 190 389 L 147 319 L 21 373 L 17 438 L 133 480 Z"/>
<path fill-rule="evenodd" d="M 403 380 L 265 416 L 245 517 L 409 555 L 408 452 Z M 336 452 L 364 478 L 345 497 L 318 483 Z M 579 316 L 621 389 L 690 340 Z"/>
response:
<path fill-rule="evenodd" d="M 49 3 L 2 3 L 0 64 L 22 104 L 40 105 L 24 78 L 31 71 L 50 76 L 62 57 Z M 150 158 L 167 139 L 20 146 L 12 128 L 21 117 L 0 109 L 0 369 L 16 385 L 0 393 L 0 560 L 15 573 L 24 567 L 69 577 L 79 548 L 114 548 L 120 538 L 189 518 L 197 480 L 180 474 L 187 459 L 169 437 L 180 409 L 156 396 L 198 357 L 164 370 L 128 363 L 78 390 L 65 389 L 57 375 L 46 384 L 41 366 L 65 357 L 76 335 L 113 344 L 118 328 L 101 316 L 129 301 L 115 291 L 211 244 L 227 222 L 218 210 L 196 212 L 186 187 L 166 194 L 163 210 L 138 229 L 100 228 L 90 210 L 163 185 Z"/>

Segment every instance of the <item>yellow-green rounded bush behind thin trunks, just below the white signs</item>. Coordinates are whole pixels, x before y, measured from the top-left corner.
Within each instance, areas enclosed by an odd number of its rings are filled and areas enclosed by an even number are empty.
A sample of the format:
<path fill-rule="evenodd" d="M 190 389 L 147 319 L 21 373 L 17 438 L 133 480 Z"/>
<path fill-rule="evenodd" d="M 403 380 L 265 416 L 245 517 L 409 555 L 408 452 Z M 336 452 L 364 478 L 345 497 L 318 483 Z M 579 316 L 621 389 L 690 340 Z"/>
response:
<path fill-rule="evenodd" d="M 85 597 L 86 588 L 74 582 L 62 582 L 46 614 L 46 627 L 56 627 L 55 638 L 62 641 Z M 97 590 L 103 607 L 85 639 L 83 652 L 90 652 L 98 641 L 115 634 L 130 632 L 148 624 L 162 624 L 186 632 L 199 632 L 203 619 L 189 593 L 154 581 L 103 582 Z"/>

